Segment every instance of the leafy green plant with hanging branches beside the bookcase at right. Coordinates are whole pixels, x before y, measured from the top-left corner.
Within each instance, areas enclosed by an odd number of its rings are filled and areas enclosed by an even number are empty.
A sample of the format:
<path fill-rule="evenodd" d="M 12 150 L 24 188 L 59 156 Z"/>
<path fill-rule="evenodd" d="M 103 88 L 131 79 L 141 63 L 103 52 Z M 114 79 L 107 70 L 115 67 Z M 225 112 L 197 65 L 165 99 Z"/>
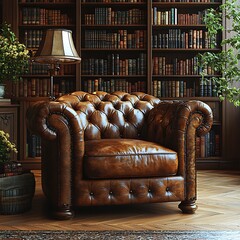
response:
<path fill-rule="evenodd" d="M 222 17 L 231 22 L 230 29 L 222 23 Z M 202 79 L 213 82 L 214 91 L 221 99 L 227 99 L 235 106 L 240 106 L 240 6 L 237 0 L 226 0 L 218 9 L 208 9 L 204 17 L 211 47 L 216 47 L 216 35 L 223 32 L 222 50 L 199 54 L 199 67 Z M 207 76 L 206 69 L 211 67 L 219 77 Z"/>

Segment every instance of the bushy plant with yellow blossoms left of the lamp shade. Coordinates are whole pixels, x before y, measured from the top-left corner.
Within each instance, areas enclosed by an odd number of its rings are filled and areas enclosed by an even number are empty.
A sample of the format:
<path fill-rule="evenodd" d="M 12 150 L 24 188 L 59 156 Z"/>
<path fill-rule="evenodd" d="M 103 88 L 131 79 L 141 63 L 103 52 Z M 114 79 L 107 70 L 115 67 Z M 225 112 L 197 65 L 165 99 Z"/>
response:
<path fill-rule="evenodd" d="M 0 29 L 0 84 L 19 81 L 28 71 L 28 64 L 26 46 L 19 43 L 10 25 L 4 23 Z"/>

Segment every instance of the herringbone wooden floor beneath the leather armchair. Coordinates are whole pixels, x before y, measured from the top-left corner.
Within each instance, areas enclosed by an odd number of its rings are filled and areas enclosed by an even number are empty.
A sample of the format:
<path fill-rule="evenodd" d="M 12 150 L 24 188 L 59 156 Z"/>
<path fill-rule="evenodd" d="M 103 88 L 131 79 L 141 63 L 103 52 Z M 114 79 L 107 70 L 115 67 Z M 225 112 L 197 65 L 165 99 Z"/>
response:
<path fill-rule="evenodd" d="M 198 171 L 198 210 L 185 215 L 178 203 L 83 208 L 74 219 L 48 219 L 40 186 L 32 210 L 0 216 L 0 230 L 240 230 L 240 172 Z"/>

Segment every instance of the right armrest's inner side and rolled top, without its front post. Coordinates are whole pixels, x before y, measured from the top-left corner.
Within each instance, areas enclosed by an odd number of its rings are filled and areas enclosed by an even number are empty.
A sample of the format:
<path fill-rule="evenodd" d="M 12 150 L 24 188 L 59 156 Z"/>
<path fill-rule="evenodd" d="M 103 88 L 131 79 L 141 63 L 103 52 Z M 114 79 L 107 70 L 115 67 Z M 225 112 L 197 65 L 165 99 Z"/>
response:
<path fill-rule="evenodd" d="M 210 131 L 212 123 L 212 110 L 206 103 L 162 101 L 149 113 L 148 139 L 177 151 L 179 139 L 191 133 L 190 125 L 201 136 Z"/>

